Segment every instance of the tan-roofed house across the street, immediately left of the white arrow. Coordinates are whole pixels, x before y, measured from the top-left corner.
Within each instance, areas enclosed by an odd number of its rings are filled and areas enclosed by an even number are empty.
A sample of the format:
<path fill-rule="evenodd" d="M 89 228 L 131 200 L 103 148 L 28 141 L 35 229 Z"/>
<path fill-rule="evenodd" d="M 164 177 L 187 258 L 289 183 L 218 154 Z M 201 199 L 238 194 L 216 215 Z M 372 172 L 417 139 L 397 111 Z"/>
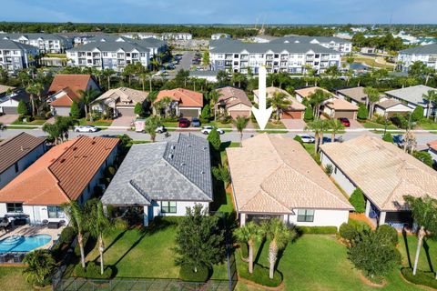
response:
<path fill-rule="evenodd" d="M 232 118 L 237 116 L 250 117 L 252 103 L 244 90 L 226 86 L 216 89 L 216 91 L 220 96 L 215 106 L 221 114 L 226 112 Z"/>

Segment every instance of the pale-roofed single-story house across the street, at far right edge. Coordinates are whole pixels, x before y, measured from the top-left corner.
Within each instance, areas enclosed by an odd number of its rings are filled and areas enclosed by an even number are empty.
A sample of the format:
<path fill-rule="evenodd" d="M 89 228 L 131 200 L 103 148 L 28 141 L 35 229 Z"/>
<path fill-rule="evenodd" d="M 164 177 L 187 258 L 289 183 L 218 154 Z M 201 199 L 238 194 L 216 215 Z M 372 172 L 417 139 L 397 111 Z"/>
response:
<path fill-rule="evenodd" d="M 391 90 L 385 92 L 385 94 L 393 99 L 401 101 L 402 104 L 414 109 L 417 106 L 423 107 L 423 115 L 427 115 L 428 101 L 423 98 L 423 95 L 427 95 L 428 91 L 433 90 L 437 92 L 437 89 L 427 85 L 412 85 L 410 87 Z M 430 115 L 436 112 L 437 105 L 432 103 Z"/>

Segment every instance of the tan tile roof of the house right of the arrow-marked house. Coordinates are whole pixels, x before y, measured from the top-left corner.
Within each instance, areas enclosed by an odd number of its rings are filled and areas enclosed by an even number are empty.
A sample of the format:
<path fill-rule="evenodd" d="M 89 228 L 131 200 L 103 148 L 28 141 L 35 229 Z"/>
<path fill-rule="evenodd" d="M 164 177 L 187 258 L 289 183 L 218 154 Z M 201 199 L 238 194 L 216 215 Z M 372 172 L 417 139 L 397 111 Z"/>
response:
<path fill-rule="evenodd" d="M 406 195 L 437 198 L 437 173 L 379 137 L 361 135 L 321 150 L 381 210 L 403 209 Z"/>

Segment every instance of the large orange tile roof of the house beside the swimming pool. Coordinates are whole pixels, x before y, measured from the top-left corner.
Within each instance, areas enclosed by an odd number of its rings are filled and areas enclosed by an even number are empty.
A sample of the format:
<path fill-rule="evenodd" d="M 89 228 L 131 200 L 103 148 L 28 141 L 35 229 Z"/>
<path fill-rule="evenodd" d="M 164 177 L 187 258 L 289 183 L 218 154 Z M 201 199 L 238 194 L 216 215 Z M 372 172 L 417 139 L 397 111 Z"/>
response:
<path fill-rule="evenodd" d="M 54 146 L 0 190 L 0 202 L 60 205 L 76 200 L 118 144 L 86 135 Z"/>

